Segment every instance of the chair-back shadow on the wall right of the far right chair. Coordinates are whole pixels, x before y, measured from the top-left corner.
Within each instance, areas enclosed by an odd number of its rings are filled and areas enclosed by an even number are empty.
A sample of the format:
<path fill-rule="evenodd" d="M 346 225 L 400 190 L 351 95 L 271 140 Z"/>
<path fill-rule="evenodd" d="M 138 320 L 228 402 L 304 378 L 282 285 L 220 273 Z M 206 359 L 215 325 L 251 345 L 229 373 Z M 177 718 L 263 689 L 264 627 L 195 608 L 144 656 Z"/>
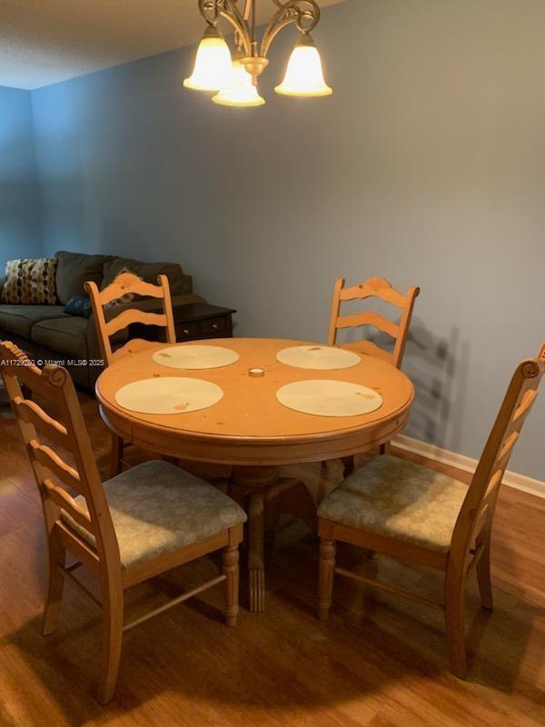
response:
<path fill-rule="evenodd" d="M 458 327 L 451 328 L 447 339 L 413 318 L 407 345 L 403 368 L 416 390 L 408 433 L 460 452 L 466 395 L 462 382 L 467 381 L 470 344 L 461 340 Z"/>

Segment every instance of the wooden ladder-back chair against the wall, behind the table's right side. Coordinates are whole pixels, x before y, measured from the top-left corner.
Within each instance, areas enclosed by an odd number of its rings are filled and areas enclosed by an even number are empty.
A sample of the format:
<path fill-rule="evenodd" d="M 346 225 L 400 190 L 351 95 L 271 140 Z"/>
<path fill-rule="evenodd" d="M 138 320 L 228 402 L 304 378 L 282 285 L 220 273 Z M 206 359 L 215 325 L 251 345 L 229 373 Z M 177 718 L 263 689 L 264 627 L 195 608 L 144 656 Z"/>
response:
<path fill-rule="evenodd" d="M 385 361 L 401 369 L 401 362 L 403 360 L 403 354 L 405 353 L 405 344 L 407 343 L 407 334 L 409 334 L 409 326 L 411 324 L 412 309 L 419 294 L 420 288 L 416 285 L 411 286 L 406 294 L 402 294 L 395 290 L 395 288 L 392 288 L 391 283 L 386 278 L 367 278 L 363 283 L 354 285 L 351 288 L 344 287 L 344 278 L 337 278 L 333 291 L 328 345 L 337 345 L 337 332 L 342 328 L 371 326 L 383 334 L 388 334 L 393 339 L 394 345 L 392 352 L 385 351 L 377 344 L 366 339 L 350 344 L 341 344 L 340 348 L 346 348 L 355 353 L 380 358 L 381 361 Z M 342 303 L 354 300 L 365 300 L 367 298 L 379 298 L 383 303 L 389 303 L 399 308 L 401 310 L 399 323 L 394 323 L 383 315 L 372 311 L 341 315 Z M 386 451 L 387 445 L 381 444 L 381 454 Z M 354 457 L 352 455 L 343 457 L 342 464 L 344 466 L 344 476 L 352 473 L 354 469 Z M 323 466 L 325 466 L 325 463 Z"/>

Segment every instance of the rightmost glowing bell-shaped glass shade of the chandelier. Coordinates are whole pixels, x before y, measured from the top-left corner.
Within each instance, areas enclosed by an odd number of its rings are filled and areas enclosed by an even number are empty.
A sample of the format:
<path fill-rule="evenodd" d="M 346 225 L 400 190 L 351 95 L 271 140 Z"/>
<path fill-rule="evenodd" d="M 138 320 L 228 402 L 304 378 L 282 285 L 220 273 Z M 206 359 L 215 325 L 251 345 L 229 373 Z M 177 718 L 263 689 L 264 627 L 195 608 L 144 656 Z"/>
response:
<path fill-rule="evenodd" d="M 287 96 L 332 95 L 332 88 L 323 80 L 318 48 L 309 33 L 303 33 L 293 48 L 282 84 L 274 90 Z"/>

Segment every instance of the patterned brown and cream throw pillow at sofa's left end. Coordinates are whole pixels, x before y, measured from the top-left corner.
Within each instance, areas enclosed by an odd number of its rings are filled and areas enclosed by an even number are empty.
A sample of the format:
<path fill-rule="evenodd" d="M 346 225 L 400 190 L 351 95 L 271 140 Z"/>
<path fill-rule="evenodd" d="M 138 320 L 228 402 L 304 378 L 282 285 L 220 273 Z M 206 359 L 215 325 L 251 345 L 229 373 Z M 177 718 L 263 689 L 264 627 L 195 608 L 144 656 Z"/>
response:
<path fill-rule="evenodd" d="M 56 257 L 8 260 L 5 264 L 3 303 L 54 305 Z"/>

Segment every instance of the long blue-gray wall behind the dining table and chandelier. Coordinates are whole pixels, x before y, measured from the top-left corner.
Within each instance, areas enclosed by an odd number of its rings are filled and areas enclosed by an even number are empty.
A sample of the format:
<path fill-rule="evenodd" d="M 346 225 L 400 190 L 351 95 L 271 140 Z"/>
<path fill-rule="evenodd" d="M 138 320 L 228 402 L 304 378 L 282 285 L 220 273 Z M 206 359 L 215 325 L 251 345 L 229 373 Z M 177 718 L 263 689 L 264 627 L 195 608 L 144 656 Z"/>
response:
<path fill-rule="evenodd" d="M 331 99 L 183 90 L 193 49 L 33 94 L 45 251 L 179 261 L 237 334 L 323 340 L 332 284 L 421 285 L 407 433 L 478 456 L 545 339 L 545 3 L 350 0 L 315 33 Z M 287 45 L 286 45 L 287 44 Z M 538 403 L 512 468 L 545 479 Z"/>

